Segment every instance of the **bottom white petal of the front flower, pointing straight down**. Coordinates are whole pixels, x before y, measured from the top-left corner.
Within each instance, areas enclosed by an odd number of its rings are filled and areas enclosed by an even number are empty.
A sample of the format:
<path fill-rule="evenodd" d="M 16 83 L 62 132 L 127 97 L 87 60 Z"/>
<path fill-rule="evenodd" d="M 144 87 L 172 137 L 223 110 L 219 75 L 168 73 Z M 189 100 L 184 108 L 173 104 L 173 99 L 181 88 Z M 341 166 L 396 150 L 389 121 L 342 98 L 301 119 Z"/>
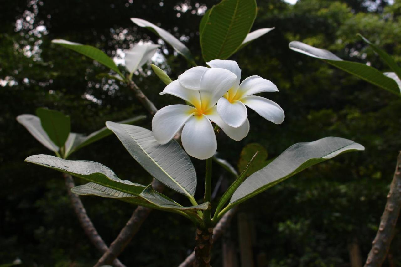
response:
<path fill-rule="evenodd" d="M 200 160 L 211 158 L 217 150 L 215 131 L 205 115 L 194 115 L 185 123 L 181 141 L 186 153 Z"/>

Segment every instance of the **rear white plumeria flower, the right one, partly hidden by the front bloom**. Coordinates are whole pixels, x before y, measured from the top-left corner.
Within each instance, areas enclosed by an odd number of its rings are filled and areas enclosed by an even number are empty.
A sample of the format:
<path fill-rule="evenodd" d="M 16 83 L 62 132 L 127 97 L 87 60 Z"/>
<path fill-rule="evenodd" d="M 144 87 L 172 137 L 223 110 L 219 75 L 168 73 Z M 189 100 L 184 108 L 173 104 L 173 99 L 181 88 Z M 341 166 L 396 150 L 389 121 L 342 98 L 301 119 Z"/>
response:
<path fill-rule="evenodd" d="M 225 123 L 231 127 L 243 125 L 248 117 L 245 105 L 273 123 L 280 124 L 284 121 L 284 111 L 277 103 L 264 97 L 253 95 L 261 92 L 277 92 L 278 89 L 274 83 L 254 75 L 246 78 L 240 84 L 241 69 L 237 62 L 232 60 L 215 59 L 206 64 L 212 69 L 227 69 L 235 73 L 237 78 L 234 85 L 217 102 L 217 112 Z M 186 88 L 199 90 L 202 73 L 207 69 L 209 68 L 193 67 L 180 75 L 178 81 Z"/>

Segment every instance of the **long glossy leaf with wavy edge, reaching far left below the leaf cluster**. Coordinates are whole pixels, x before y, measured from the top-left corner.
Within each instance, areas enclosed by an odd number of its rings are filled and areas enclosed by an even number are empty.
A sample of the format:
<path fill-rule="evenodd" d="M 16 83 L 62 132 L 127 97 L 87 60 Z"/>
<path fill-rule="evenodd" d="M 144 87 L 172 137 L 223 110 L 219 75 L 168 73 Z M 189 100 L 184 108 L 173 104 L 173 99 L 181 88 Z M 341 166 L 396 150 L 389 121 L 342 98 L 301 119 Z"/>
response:
<path fill-rule="evenodd" d="M 145 186 L 141 184 L 136 184 L 128 180 L 120 180 L 112 170 L 103 164 L 93 161 L 63 160 L 49 155 L 29 156 L 25 161 L 136 196 L 145 189 Z"/>

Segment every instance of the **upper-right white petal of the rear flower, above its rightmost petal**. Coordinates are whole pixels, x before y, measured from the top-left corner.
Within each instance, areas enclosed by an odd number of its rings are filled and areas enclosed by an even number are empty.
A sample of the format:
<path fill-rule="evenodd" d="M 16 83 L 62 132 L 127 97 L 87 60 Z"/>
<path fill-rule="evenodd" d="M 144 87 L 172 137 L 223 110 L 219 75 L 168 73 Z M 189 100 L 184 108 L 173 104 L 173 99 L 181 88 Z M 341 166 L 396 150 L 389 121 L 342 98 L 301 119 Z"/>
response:
<path fill-rule="evenodd" d="M 278 89 L 274 83 L 257 75 L 243 80 L 238 89 L 238 93 L 241 93 L 243 97 L 261 92 L 278 92 Z"/>

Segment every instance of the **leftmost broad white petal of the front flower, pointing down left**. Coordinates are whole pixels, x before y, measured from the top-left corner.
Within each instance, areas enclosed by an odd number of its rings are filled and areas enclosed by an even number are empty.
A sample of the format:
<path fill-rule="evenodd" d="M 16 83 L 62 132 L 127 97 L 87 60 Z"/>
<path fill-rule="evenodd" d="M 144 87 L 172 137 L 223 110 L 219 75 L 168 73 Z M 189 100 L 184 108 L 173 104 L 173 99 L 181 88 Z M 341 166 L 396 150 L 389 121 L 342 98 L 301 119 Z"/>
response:
<path fill-rule="evenodd" d="M 194 111 L 196 109 L 188 105 L 170 105 L 157 111 L 152 119 L 153 136 L 157 142 L 170 142 Z"/>

